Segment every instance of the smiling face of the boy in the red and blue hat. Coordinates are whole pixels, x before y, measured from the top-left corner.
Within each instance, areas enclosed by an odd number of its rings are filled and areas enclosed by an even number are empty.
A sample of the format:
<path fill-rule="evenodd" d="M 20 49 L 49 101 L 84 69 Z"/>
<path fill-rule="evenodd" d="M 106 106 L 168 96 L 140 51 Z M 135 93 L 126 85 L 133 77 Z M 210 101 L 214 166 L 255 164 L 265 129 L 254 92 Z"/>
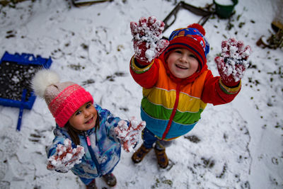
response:
<path fill-rule="evenodd" d="M 168 56 L 167 64 L 171 73 L 180 79 L 191 76 L 199 67 L 197 57 L 185 48 L 173 50 Z"/>

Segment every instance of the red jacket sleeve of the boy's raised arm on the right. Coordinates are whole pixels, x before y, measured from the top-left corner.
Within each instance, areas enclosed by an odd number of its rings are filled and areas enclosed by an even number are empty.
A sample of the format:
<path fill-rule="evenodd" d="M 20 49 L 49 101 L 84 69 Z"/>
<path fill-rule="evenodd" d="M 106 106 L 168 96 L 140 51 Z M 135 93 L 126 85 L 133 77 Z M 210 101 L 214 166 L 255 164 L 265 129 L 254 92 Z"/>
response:
<path fill-rule="evenodd" d="M 202 101 L 204 101 L 204 103 L 212 103 L 213 105 L 229 103 L 233 101 L 240 90 L 241 82 L 238 86 L 230 88 L 221 82 L 220 76 L 213 76 L 212 71 L 209 70 L 204 82 Z"/>

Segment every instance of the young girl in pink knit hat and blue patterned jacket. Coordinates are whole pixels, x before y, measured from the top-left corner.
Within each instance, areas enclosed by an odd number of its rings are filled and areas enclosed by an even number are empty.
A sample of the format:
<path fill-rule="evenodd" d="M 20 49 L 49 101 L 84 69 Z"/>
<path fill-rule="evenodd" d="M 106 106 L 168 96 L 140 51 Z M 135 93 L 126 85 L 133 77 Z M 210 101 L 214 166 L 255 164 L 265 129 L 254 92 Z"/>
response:
<path fill-rule="evenodd" d="M 53 71 L 37 71 L 32 86 L 57 123 L 54 140 L 47 148 L 47 168 L 61 173 L 71 170 L 86 188 L 96 188 L 98 177 L 114 186 L 112 171 L 120 161 L 121 144 L 131 151 L 145 122 L 114 117 L 109 110 L 93 105 L 91 94 L 78 84 L 59 83 Z"/>

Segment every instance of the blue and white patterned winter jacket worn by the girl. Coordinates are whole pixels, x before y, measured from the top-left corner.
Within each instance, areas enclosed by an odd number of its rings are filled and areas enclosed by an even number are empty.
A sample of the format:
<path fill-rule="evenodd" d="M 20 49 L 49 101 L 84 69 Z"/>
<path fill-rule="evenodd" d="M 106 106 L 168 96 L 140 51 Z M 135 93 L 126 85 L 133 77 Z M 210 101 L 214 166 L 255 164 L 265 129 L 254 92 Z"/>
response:
<path fill-rule="evenodd" d="M 112 116 L 109 110 L 101 108 L 95 104 L 98 111 L 99 127 L 79 134 L 81 146 L 84 147 L 85 154 L 81 159 L 81 164 L 75 164 L 71 171 L 81 178 L 96 178 L 110 173 L 120 161 L 121 144 L 115 137 L 113 128 L 117 126 L 120 118 Z M 57 144 L 64 144 L 65 139 L 71 139 L 66 128 L 57 125 L 54 129 L 54 140 L 47 149 L 47 157 L 54 155 Z M 89 137 L 91 146 L 88 146 L 86 137 Z M 76 144 L 72 142 L 72 147 Z"/>

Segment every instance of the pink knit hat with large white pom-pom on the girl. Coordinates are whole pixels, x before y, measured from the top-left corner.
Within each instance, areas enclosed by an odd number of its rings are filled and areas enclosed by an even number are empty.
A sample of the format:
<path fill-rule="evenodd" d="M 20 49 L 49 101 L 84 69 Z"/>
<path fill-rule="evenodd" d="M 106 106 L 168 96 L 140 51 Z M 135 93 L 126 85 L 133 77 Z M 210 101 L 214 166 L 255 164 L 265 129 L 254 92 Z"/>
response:
<path fill-rule="evenodd" d="M 45 99 L 59 127 L 64 127 L 81 105 L 93 103 L 93 97 L 83 87 L 71 81 L 59 83 L 59 76 L 47 69 L 37 71 L 32 87 L 37 96 Z"/>

